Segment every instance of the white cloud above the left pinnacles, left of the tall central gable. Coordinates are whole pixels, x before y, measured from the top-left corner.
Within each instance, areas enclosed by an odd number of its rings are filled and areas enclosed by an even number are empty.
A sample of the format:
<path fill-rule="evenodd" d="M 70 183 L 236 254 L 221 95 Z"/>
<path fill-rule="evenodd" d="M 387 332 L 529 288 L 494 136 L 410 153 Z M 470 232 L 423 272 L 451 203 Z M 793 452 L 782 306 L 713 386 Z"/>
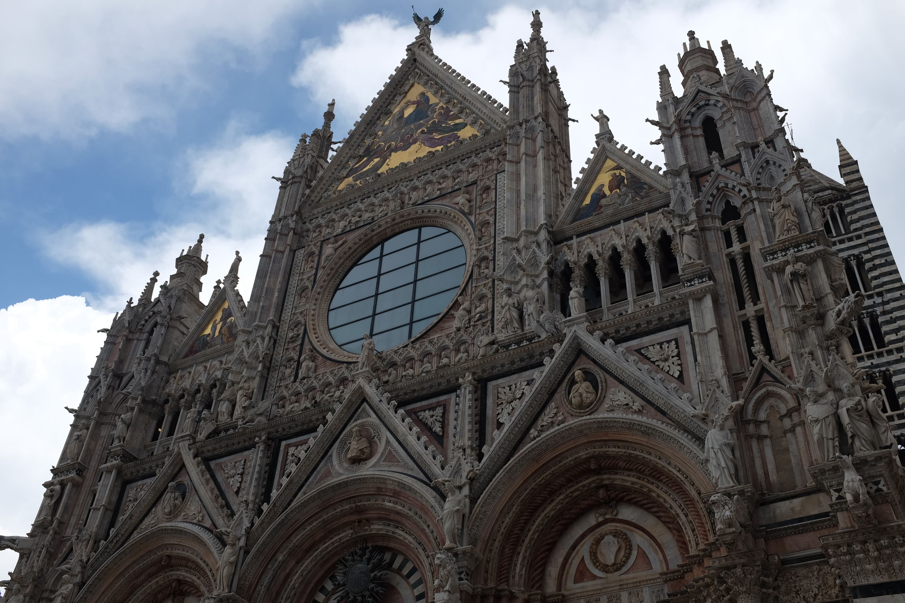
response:
<path fill-rule="evenodd" d="M 43 238 L 47 255 L 63 265 L 81 269 L 97 285 L 84 294 L 93 306 L 119 310 L 129 297 L 138 297 L 153 270 L 160 282 L 175 272 L 180 250 L 205 233 L 204 253 L 210 255 L 205 289 L 222 278 L 243 252 L 240 289 L 248 292 L 257 269 L 278 184 L 293 141 L 276 132 L 242 135 L 229 128 L 214 146 L 186 154 L 176 201 L 149 226 L 147 223 L 100 221 L 72 224 Z M 149 233 L 148 233 L 149 231 Z"/>

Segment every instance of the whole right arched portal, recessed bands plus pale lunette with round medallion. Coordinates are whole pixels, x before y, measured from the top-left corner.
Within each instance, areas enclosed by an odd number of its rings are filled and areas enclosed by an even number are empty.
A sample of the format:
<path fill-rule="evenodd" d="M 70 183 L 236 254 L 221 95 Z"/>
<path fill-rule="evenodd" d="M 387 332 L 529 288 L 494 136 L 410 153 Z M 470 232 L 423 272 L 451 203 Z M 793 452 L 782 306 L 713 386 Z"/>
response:
<path fill-rule="evenodd" d="M 712 539 L 699 446 L 655 419 L 598 416 L 523 448 L 472 512 L 472 583 L 655 600 L 660 573 Z"/>

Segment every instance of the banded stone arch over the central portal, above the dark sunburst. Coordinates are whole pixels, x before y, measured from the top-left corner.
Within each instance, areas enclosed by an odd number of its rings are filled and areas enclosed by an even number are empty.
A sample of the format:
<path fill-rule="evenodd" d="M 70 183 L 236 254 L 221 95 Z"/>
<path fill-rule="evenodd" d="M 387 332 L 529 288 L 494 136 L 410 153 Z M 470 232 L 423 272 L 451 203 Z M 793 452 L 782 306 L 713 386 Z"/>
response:
<path fill-rule="evenodd" d="M 372 472 L 329 482 L 250 542 L 237 593 L 252 603 L 310 603 L 343 551 L 362 540 L 404 554 L 429 575 L 432 553 L 443 547 L 442 508 L 433 488 L 411 476 Z M 365 520 L 365 532 L 353 520 Z"/>

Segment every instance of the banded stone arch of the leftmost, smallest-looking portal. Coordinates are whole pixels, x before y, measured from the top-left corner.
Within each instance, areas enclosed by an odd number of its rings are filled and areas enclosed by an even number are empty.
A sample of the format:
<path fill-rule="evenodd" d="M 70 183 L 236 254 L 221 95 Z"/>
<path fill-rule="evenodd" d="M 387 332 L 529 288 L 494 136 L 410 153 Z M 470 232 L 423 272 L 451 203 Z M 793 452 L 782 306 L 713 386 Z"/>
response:
<path fill-rule="evenodd" d="M 115 552 L 81 589 L 73 603 L 149 602 L 173 582 L 213 594 L 223 545 L 194 523 L 152 528 Z"/>

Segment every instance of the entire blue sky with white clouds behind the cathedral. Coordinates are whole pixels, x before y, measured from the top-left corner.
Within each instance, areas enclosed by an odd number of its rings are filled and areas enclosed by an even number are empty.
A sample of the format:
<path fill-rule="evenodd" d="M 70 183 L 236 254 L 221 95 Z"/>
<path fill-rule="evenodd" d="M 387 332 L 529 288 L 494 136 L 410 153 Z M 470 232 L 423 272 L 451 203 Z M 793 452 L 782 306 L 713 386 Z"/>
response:
<path fill-rule="evenodd" d="M 0 4 L 0 533 L 27 532 L 58 462 L 85 375 L 110 324 L 152 270 L 173 272 L 205 232 L 202 299 L 243 252 L 247 298 L 282 173 L 337 99 L 336 138 L 414 39 L 411 2 L 66 0 Z M 433 14 L 438 5 L 416 5 Z M 905 258 L 899 77 L 905 4 L 800 0 L 459 2 L 435 52 L 507 103 L 518 38 L 539 8 L 570 114 L 573 173 L 603 108 L 614 136 L 662 165 L 644 123 L 666 64 L 693 29 L 729 39 L 770 87 L 814 167 L 838 178 L 835 138 L 861 162 Z M 719 50 L 718 50 L 719 54 Z M 0 575 L 15 555 L 0 551 Z"/>

